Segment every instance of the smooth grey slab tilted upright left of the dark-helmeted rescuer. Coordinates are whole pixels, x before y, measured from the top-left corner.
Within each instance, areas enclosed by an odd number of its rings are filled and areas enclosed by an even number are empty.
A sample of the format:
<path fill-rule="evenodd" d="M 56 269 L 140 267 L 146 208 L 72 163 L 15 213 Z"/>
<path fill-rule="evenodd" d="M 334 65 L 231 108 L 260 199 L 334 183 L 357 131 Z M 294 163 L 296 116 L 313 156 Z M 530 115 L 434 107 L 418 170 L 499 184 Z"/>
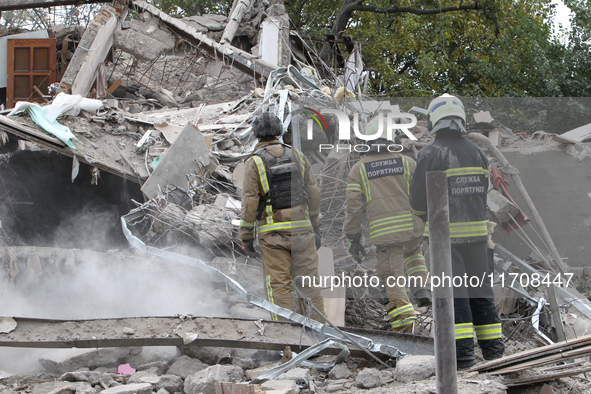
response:
<path fill-rule="evenodd" d="M 174 185 L 188 190 L 187 175 L 194 172 L 195 161 L 208 165 L 209 151 L 203 134 L 187 124 L 142 186 L 142 192 L 148 198 L 154 198 L 158 195 L 159 187 Z"/>

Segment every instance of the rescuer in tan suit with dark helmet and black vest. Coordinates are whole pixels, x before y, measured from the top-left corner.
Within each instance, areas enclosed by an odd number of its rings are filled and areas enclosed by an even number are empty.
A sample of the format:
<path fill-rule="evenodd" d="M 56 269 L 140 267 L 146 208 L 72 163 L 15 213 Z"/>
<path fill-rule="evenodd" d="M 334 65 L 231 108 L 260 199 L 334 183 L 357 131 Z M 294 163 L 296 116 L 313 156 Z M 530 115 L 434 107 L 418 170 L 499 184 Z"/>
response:
<path fill-rule="evenodd" d="M 246 160 L 242 184 L 240 238 L 247 255 L 256 255 L 255 228 L 263 259 L 267 299 L 281 307 L 295 310 L 291 286 L 294 284 L 326 315 L 320 287 L 302 286 L 303 278 L 317 277 L 320 235 L 318 215 L 320 192 L 308 159 L 296 149 L 279 141 L 283 125 L 266 112 L 253 124 L 259 143 Z M 300 311 L 309 311 L 298 298 Z M 312 308 L 309 308 L 312 309 Z M 324 316 L 312 311 L 310 317 L 324 323 Z M 273 320 L 277 315 L 271 314 Z"/>

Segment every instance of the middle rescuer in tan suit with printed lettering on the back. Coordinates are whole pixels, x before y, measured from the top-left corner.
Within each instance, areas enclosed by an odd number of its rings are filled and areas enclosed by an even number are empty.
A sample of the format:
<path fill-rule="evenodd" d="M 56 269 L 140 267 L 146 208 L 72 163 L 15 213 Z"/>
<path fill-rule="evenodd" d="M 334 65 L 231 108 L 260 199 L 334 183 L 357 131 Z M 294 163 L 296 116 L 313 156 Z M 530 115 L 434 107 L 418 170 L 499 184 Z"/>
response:
<path fill-rule="evenodd" d="M 365 127 L 366 135 L 380 132 L 379 116 Z M 412 214 L 408 200 L 409 186 L 416 163 L 399 153 L 400 138 L 388 135 L 382 122 L 382 135 L 368 142 L 370 149 L 351 171 L 347 180 L 347 220 L 345 233 L 349 251 L 358 261 L 365 250 L 361 244 L 361 224 L 367 216 L 371 241 L 376 245 L 377 273 L 385 286 L 386 310 L 393 331 L 414 332 L 417 320 L 406 287 L 399 287 L 398 278 L 404 273 L 413 283 L 411 294 L 419 306 L 430 305 L 427 286 L 428 271 L 421 250 L 424 224 Z M 388 279 L 390 278 L 390 279 Z M 414 281 L 414 282 L 413 282 Z M 416 283 L 415 283 L 416 282 Z M 416 290 L 413 294 L 413 290 Z"/>

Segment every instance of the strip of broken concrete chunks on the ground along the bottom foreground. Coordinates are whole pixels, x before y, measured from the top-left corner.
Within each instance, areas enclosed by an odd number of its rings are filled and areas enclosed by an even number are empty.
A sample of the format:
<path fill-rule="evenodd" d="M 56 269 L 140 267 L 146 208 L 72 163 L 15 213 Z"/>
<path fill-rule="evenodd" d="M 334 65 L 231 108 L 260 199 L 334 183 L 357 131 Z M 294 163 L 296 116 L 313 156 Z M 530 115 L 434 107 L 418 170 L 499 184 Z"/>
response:
<path fill-rule="evenodd" d="M 408 357 L 395 368 L 382 370 L 369 366 L 366 360 L 352 358 L 330 371 L 296 367 L 276 379 L 249 384 L 282 360 L 264 351 L 203 350 L 210 352 L 210 357 L 204 358 L 207 362 L 166 352 L 144 354 L 141 348 L 98 349 L 61 359 L 43 358 L 39 362 L 44 372 L 12 376 L 2 372 L 0 392 L 199 394 L 234 392 L 222 390 L 240 388 L 240 392 L 275 394 L 388 390 L 428 393 L 435 388 L 433 356 Z M 211 354 L 218 355 L 217 362 Z M 459 388 L 465 394 L 471 390 L 506 392 L 499 378 L 475 373 L 461 374 Z"/>

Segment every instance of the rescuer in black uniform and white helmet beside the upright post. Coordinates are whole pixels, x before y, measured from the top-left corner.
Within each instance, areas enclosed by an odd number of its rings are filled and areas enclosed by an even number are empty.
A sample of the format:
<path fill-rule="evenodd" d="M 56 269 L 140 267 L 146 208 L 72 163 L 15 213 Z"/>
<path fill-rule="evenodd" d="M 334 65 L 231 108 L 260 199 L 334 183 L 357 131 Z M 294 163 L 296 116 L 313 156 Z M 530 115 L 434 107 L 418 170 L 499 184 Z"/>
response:
<path fill-rule="evenodd" d="M 435 141 L 422 148 L 410 185 L 410 204 L 421 218 L 427 218 L 426 173 L 447 174 L 452 275 L 477 276 L 484 283 L 454 287 L 456 358 L 458 369 L 476 363 L 474 333 L 485 360 L 503 356 L 501 318 L 494 303 L 489 274 L 494 262 L 487 246 L 486 196 L 488 159 L 466 135 L 466 113 L 462 102 L 444 94 L 429 104 L 429 129 Z M 429 223 L 425 236 L 429 234 Z M 436 264 L 437 262 L 431 262 Z"/>

